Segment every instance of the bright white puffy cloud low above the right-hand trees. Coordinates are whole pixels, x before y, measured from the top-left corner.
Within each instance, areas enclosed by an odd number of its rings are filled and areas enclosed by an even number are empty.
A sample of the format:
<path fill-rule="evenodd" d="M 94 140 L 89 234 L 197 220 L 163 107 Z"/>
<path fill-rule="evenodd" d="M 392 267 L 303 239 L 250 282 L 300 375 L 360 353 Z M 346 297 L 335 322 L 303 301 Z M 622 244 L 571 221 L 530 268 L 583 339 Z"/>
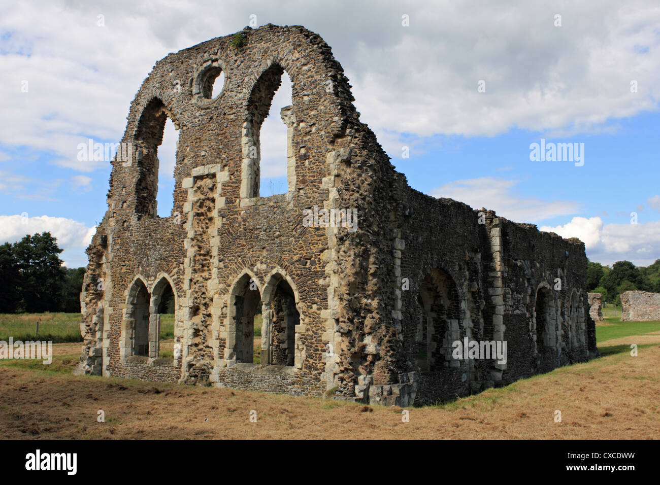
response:
<path fill-rule="evenodd" d="M 660 258 L 660 221 L 645 224 L 603 224 L 600 217 L 574 217 L 563 226 L 543 226 L 564 238 L 579 238 L 587 257 L 603 265 L 631 261 L 647 266 Z"/>

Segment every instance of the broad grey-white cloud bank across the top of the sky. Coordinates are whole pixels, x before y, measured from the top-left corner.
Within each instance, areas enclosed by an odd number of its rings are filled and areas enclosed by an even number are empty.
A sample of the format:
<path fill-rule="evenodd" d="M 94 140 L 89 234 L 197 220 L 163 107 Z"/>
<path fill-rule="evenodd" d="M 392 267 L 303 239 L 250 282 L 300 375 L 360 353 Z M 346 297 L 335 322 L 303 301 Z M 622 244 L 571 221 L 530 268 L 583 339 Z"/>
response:
<path fill-rule="evenodd" d="M 656 109 L 660 99 L 655 0 L 432 7 L 391 0 L 377 9 L 348 0 L 305 8 L 261 1 L 221 10 L 211 0 L 195 8 L 174 0 L 7 3 L 0 7 L 0 31 L 8 33 L 0 143 L 50 151 L 82 172 L 98 168 L 102 162 L 77 160 L 78 143 L 119 140 L 129 102 L 156 59 L 236 32 L 251 15 L 257 24 L 303 24 L 321 34 L 379 137 L 490 136 L 512 127 L 595 133 L 611 129 L 608 120 Z M 486 92 L 477 92 L 479 81 Z"/>

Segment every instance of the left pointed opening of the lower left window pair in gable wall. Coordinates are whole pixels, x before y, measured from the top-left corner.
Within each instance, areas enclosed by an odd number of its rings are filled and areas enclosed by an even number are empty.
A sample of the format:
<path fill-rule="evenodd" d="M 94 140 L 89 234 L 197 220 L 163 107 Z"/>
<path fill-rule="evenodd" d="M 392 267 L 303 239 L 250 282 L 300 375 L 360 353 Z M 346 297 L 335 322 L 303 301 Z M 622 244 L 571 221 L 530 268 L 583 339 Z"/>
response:
<path fill-rule="evenodd" d="M 150 342 L 149 304 L 147 283 L 142 276 L 136 276 L 126 291 L 126 308 L 121 321 L 119 355 L 149 356 Z"/>

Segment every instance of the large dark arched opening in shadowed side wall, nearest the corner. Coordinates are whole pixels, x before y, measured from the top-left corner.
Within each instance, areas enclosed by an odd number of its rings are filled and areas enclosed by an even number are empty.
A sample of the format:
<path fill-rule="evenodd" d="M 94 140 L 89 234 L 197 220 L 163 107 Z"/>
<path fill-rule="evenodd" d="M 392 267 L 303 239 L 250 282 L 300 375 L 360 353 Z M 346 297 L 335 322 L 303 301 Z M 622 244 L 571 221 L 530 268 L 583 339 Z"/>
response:
<path fill-rule="evenodd" d="M 460 338 L 461 322 L 461 300 L 447 271 L 437 268 L 424 276 L 418 305 L 422 310 L 422 340 L 417 342 L 417 366 L 421 372 L 442 372 L 451 366 L 451 342 Z"/>

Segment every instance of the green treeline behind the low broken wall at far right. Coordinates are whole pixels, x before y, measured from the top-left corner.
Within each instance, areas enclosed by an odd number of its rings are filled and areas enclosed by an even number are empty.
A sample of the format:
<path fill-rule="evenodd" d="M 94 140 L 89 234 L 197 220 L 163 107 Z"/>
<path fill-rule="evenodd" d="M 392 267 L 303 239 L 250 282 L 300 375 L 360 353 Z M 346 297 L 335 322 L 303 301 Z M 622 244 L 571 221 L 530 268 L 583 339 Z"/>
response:
<path fill-rule="evenodd" d="M 589 292 L 603 295 L 603 302 L 620 304 L 621 294 L 630 290 L 660 293 L 660 259 L 647 267 L 617 261 L 612 267 L 587 262 Z"/>

